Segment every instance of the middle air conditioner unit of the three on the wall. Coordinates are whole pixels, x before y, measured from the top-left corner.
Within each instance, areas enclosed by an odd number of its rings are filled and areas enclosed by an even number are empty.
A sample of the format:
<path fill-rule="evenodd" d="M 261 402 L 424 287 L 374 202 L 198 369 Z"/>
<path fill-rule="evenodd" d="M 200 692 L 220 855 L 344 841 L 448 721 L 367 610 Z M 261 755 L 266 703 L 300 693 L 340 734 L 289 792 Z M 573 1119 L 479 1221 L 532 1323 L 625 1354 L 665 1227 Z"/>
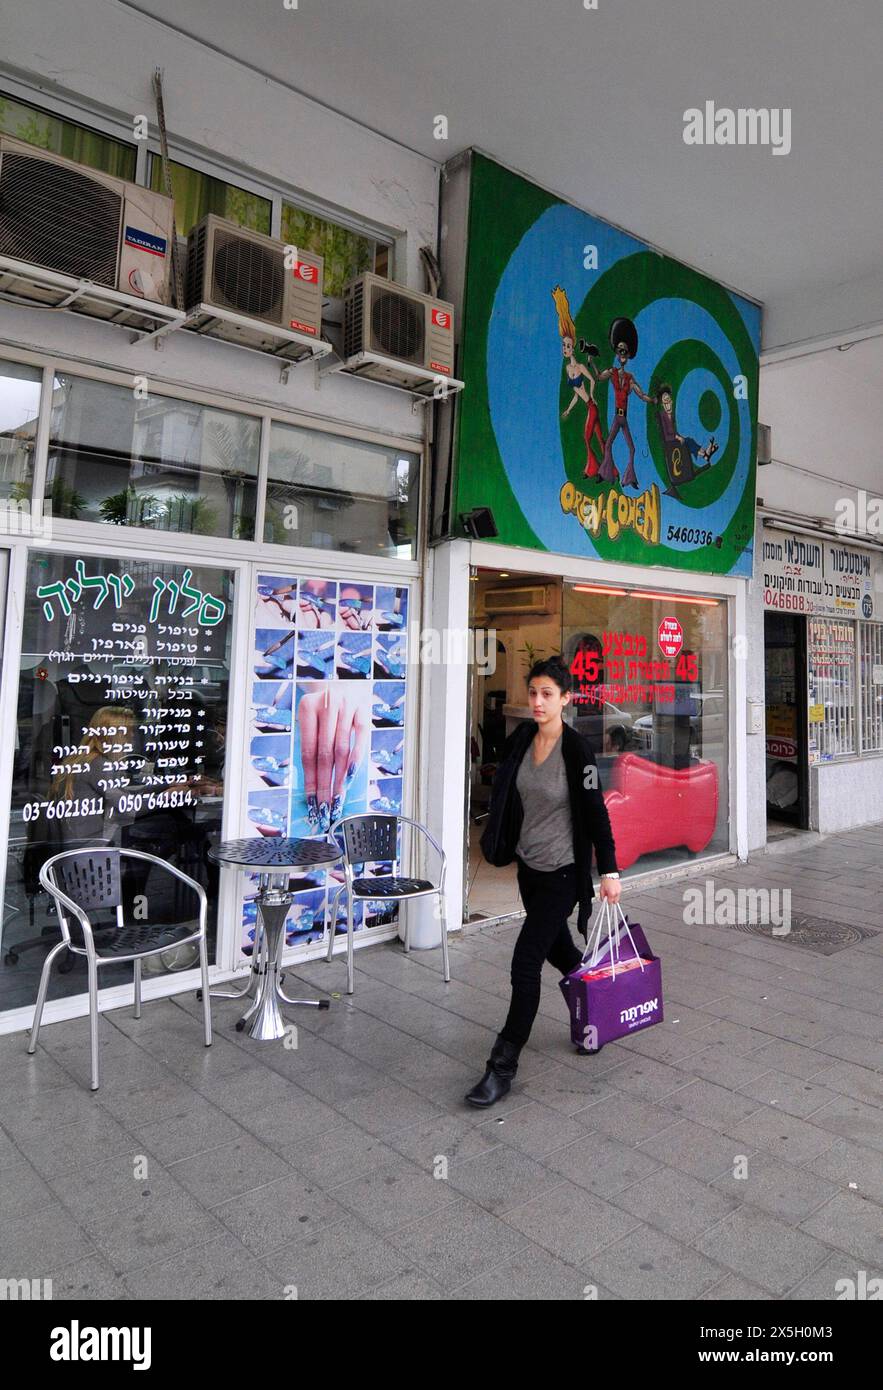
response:
<path fill-rule="evenodd" d="M 261 352 L 277 352 L 280 334 L 264 332 L 260 324 L 320 339 L 323 259 L 300 249 L 291 265 L 285 257 L 285 242 L 210 213 L 188 238 L 188 311 L 199 304 L 221 310 L 206 331 Z M 236 316 L 253 322 L 236 322 Z"/>

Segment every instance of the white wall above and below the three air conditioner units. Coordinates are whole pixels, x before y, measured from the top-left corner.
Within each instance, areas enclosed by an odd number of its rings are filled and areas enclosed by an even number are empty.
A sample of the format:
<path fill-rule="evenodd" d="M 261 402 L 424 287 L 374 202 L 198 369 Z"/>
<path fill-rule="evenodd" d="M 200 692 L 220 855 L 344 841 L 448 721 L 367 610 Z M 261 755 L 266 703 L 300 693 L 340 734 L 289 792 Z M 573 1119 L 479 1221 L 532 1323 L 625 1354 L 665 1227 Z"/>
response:
<path fill-rule="evenodd" d="M 306 193 L 394 234 L 396 279 L 424 289 L 419 249 L 435 246 L 438 217 L 438 168 L 431 160 L 115 0 L 65 0 L 51 14 L 42 4 L 6 7 L 0 61 L 13 75 L 38 81 L 44 100 L 54 93 L 95 103 L 129 126 L 139 114 L 153 126 L 150 83 L 160 67 L 172 153 L 181 142 L 185 160 L 186 147 L 210 153 L 229 164 L 234 182 L 236 168 L 270 177 L 293 195 Z M 39 103 L 39 95 L 33 100 Z M 131 348 L 122 331 L 79 316 L 0 304 L 0 336 L 146 371 L 157 381 L 277 402 L 398 435 L 420 434 L 409 399 L 394 391 L 339 378 L 317 389 L 313 368 L 292 373 L 284 386 L 274 363 L 235 348 L 207 348 L 192 335 L 174 335 L 157 353 Z"/>

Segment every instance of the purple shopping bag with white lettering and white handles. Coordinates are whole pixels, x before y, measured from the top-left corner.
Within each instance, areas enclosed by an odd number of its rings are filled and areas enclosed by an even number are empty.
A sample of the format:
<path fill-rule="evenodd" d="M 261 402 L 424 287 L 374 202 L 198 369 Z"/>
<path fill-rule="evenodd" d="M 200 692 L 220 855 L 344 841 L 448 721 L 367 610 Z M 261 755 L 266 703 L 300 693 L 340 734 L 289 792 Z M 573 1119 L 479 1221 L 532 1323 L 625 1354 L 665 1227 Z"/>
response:
<path fill-rule="evenodd" d="M 613 1038 L 662 1023 L 662 962 L 641 927 L 619 915 L 622 927 L 612 912 L 602 912 L 581 965 L 560 981 L 570 1040 L 583 1052 L 598 1052 Z"/>

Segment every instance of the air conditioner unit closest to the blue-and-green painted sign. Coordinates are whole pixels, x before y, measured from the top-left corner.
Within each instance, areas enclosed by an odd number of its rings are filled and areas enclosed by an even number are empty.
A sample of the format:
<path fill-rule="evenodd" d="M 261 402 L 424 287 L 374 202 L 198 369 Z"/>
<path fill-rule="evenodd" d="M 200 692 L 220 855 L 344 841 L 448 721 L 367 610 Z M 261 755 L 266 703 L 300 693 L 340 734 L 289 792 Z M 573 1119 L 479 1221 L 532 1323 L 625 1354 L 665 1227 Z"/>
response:
<path fill-rule="evenodd" d="M 439 377 L 453 375 L 453 304 L 403 289 L 381 275 L 364 274 L 343 292 L 343 359 L 378 353 L 360 377 L 412 385 L 407 366 Z"/>

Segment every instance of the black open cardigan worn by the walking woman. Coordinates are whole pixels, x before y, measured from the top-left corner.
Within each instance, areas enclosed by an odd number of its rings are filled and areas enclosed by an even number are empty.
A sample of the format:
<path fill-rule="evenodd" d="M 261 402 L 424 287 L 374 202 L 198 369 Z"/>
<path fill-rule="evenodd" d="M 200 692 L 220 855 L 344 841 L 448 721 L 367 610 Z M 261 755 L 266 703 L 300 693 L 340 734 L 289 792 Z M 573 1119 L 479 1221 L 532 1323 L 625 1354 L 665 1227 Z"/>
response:
<path fill-rule="evenodd" d="M 481 837 L 481 852 L 488 863 L 502 866 L 515 859 L 515 849 L 521 831 L 524 806 L 516 785 L 521 759 L 537 733 L 537 723 L 524 720 L 509 735 L 502 748 L 501 762 L 491 788 L 488 823 Z M 585 937 L 591 913 L 592 890 L 592 847 L 598 862 L 598 873 L 616 873 L 616 847 L 610 817 L 601 794 L 598 763 L 590 741 L 577 734 L 570 724 L 562 733 L 562 758 L 570 792 L 570 820 L 573 823 L 573 862 L 577 870 L 580 891 L 580 913 L 577 927 Z M 585 774 L 594 767 L 594 788 L 585 785 Z"/>

